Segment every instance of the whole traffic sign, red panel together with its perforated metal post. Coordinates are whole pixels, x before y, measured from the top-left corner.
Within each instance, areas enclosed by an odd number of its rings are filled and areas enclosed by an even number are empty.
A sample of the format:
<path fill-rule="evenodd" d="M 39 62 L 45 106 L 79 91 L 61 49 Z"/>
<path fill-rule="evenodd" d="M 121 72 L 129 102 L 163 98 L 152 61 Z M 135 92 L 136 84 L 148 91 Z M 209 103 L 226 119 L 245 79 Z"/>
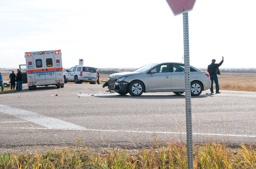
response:
<path fill-rule="evenodd" d="M 185 100 L 186 100 L 186 126 L 187 126 L 187 154 L 188 168 L 193 169 L 193 141 L 191 120 L 191 89 L 189 65 L 189 37 L 188 37 L 188 11 L 192 11 L 196 0 L 166 0 L 174 16 L 183 14 L 183 43 L 185 66 Z"/>

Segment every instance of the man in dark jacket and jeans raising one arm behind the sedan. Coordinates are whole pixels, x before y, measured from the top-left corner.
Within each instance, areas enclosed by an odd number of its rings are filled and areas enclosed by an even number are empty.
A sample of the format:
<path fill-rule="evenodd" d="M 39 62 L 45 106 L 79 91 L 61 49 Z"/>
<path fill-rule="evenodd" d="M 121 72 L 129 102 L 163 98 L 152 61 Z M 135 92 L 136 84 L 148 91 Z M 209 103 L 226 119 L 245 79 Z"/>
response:
<path fill-rule="evenodd" d="M 211 94 L 213 94 L 213 81 L 215 83 L 215 88 L 216 88 L 216 94 L 220 93 L 219 90 L 220 90 L 220 86 L 219 86 L 219 81 L 218 81 L 218 76 L 217 74 L 220 75 L 220 70 L 219 70 L 219 67 L 220 65 L 222 65 L 224 61 L 224 56 L 222 56 L 222 60 L 220 61 L 220 63 L 215 63 L 216 60 L 213 59 L 212 60 L 212 63 L 210 65 L 208 65 L 208 68 L 207 68 L 207 72 L 210 74 L 210 79 L 211 79 Z"/>

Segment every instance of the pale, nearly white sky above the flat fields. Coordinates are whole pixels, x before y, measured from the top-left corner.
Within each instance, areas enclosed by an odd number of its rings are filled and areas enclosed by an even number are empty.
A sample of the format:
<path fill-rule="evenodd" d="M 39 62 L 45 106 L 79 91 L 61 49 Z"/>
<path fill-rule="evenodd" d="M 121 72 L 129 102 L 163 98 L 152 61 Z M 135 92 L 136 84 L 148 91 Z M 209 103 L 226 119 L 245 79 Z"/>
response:
<path fill-rule="evenodd" d="M 197 0 L 188 12 L 190 65 L 255 68 L 255 0 Z M 62 51 L 63 67 L 138 68 L 183 61 L 182 14 L 165 0 L 0 0 L 0 67 L 24 52 Z"/>

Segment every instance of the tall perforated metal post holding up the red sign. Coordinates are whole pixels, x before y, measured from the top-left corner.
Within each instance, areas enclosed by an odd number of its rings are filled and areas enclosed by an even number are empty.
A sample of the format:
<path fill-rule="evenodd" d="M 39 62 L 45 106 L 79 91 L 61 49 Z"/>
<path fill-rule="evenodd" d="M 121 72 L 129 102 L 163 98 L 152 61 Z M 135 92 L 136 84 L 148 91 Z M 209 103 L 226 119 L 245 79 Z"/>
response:
<path fill-rule="evenodd" d="M 188 168 L 193 169 L 193 142 L 191 119 L 191 89 L 190 89 L 190 65 L 189 65 L 189 37 L 188 37 L 188 12 L 183 13 L 183 43 L 185 66 L 185 100 L 186 100 L 186 124 L 187 124 L 187 154 Z"/>

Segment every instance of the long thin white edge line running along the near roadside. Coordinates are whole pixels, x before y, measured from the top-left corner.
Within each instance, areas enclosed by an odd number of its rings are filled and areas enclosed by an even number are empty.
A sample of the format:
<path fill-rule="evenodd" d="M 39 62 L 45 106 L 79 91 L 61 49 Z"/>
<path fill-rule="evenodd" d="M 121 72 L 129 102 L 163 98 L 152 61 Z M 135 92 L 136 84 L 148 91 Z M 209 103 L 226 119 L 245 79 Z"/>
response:
<path fill-rule="evenodd" d="M 14 127 L 12 129 L 33 129 L 33 130 L 78 130 L 78 131 L 101 131 L 101 132 L 125 132 L 125 133 L 151 133 L 151 134 L 184 134 L 178 132 L 161 132 L 161 131 L 118 131 L 118 130 L 90 130 L 90 129 L 54 129 L 54 128 L 27 128 L 27 127 Z M 236 134 L 207 134 L 207 133 L 192 133 L 193 135 L 209 135 L 209 136 L 229 136 L 229 137 L 256 137 L 250 135 L 236 135 Z"/>

